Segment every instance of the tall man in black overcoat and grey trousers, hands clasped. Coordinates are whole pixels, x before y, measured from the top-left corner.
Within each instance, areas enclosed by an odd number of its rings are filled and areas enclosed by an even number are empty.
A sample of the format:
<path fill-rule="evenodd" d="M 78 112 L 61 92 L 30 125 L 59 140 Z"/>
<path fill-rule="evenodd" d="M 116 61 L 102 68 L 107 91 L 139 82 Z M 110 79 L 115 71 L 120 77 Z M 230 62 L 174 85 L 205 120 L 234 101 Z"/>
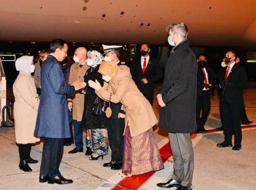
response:
<path fill-rule="evenodd" d="M 196 99 L 198 64 L 189 48 L 186 24 L 174 23 L 167 27 L 168 42 L 173 45 L 165 66 L 163 88 L 157 95 L 160 108 L 159 126 L 169 131 L 174 156 L 174 173 L 160 187 L 192 189 L 194 150 L 190 132 L 197 129 Z"/>

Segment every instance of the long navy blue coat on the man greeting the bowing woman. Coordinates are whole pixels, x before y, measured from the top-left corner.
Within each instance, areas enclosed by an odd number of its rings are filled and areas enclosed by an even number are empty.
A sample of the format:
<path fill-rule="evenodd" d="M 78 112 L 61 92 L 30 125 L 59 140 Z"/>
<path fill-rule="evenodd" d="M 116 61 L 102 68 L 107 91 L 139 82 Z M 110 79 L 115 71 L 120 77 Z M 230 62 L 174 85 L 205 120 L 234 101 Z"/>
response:
<path fill-rule="evenodd" d="M 75 88 L 66 83 L 58 60 L 49 55 L 41 65 L 41 99 L 34 135 L 46 138 L 70 138 L 66 95 Z"/>

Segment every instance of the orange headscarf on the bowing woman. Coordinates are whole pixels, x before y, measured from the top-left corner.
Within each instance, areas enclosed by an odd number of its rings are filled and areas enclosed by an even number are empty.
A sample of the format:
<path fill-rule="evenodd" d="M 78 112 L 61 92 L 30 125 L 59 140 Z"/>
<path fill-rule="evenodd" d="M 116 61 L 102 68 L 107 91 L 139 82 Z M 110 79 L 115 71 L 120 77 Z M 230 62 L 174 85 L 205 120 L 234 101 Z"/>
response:
<path fill-rule="evenodd" d="M 114 62 L 103 61 L 100 66 L 98 72 L 103 75 L 109 75 L 111 79 L 116 76 L 118 71 L 118 66 Z"/>

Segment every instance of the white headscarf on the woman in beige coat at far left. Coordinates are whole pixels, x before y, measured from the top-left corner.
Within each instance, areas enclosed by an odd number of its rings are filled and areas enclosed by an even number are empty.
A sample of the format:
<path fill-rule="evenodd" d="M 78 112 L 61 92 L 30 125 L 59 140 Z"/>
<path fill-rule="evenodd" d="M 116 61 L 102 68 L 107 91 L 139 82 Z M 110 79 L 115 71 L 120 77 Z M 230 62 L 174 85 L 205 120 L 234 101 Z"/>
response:
<path fill-rule="evenodd" d="M 33 56 L 22 56 L 18 58 L 15 62 L 15 67 L 17 71 L 25 71 L 31 74 L 31 63 L 33 61 Z"/>

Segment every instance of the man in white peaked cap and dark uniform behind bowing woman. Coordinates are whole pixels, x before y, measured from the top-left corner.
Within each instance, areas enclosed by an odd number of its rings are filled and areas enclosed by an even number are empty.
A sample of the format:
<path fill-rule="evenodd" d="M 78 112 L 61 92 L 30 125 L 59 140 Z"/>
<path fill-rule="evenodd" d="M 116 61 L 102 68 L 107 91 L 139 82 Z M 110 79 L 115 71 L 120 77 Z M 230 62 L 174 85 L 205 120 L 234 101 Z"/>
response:
<path fill-rule="evenodd" d="M 112 61 L 118 66 L 121 65 L 119 60 L 120 52 L 118 48 L 122 46 L 102 45 L 104 50 L 104 61 Z M 123 162 L 123 131 L 124 131 L 124 111 L 122 104 L 110 103 L 112 115 L 107 119 L 108 137 L 111 148 L 111 161 L 103 164 L 103 167 L 111 167 L 111 170 L 121 170 Z"/>

